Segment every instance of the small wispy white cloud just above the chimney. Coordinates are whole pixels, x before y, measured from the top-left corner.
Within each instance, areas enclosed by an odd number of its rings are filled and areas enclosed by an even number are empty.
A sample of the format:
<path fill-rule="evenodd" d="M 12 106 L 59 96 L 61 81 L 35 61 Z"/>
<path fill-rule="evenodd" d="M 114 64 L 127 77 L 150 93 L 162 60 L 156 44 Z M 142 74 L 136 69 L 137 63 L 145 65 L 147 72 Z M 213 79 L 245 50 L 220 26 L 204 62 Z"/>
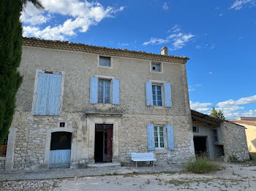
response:
<path fill-rule="evenodd" d="M 187 42 L 192 40 L 195 35 L 189 33 L 184 34 L 181 31 L 181 28 L 179 28 L 177 25 L 172 28 L 172 34 L 165 37 L 165 39 L 162 38 L 154 38 L 151 37 L 151 39 L 148 42 L 143 42 L 143 45 L 148 44 L 167 44 L 170 43 L 171 47 L 170 50 L 178 50 L 184 47 Z"/>

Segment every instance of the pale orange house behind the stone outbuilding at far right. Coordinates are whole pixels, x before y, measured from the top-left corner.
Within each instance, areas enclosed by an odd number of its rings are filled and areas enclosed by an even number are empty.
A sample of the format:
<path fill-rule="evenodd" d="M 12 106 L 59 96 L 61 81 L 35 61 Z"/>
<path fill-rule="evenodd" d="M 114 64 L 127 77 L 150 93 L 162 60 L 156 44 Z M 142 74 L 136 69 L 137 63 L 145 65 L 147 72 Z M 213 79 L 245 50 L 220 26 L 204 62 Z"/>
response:
<path fill-rule="evenodd" d="M 249 154 L 256 158 L 256 117 L 239 117 L 236 120 L 229 120 L 238 125 L 243 125 L 246 133 Z"/>

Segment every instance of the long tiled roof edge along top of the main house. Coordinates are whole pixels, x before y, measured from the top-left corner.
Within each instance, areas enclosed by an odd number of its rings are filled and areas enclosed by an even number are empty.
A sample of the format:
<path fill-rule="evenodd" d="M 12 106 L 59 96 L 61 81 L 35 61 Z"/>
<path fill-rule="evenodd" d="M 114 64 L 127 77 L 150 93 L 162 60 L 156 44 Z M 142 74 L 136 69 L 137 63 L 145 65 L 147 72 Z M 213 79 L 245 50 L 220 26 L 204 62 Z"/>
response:
<path fill-rule="evenodd" d="M 127 58 L 139 58 L 146 59 L 150 61 L 162 61 L 162 62 L 176 62 L 176 63 L 187 63 L 189 58 L 182 57 L 178 55 L 159 55 L 154 53 L 127 50 L 127 49 L 115 49 L 108 47 L 97 47 L 88 44 L 73 43 L 68 41 L 53 41 L 53 40 L 44 40 L 37 39 L 34 37 L 27 38 L 23 37 L 23 46 L 29 47 L 42 47 L 50 48 L 57 50 L 69 50 L 77 52 L 89 52 L 99 55 L 110 55 L 110 56 L 120 56 Z"/>

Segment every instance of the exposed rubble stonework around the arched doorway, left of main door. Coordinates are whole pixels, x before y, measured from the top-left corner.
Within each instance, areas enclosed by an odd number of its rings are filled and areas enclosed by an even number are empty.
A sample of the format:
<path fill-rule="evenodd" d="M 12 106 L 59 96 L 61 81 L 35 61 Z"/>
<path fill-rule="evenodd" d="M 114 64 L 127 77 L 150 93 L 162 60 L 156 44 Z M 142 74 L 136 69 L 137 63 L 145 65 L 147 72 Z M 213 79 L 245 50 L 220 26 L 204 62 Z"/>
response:
<path fill-rule="evenodd" d="M 15 112 L 12 128 L 17 128 L 15 139 L 14 169 L 31 170 L 45 168 L 45 141 L 47 130 L 58 128 L 59 122 L 66 122 L 65 128 L 74 129 L 72 140 L 76 140 L 76 159 L 80 160 L 86 130 L 83 114 L 63 112 L 60 116 L 33 116 L 30 112 Z"/>

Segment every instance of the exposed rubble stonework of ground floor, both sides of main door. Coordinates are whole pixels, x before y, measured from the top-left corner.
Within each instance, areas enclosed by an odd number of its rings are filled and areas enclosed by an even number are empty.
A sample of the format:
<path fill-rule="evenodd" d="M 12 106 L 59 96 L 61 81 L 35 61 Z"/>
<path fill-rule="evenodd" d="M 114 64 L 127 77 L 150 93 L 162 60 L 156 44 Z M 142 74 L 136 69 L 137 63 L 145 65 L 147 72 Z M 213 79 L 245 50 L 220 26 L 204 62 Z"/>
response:
<path fill-rule="evenodd" d="M 81 163 L 89 163 L 89 130 L 86 114 L 63 112 L 60 116 L 34 116 L 31 112 L 15 112 L 12 128 L 16 128 L 14 169 L 34 170 L 48 168 L 46 140 L 48 130 L 59 127 L 59 122 L 66 122 L 66 128 L 72 129 L 72 149 L 74 168 Z M 102 120 L 105 121 L 105 120 Z M 146 124 L 172 124 L 175 150 L 167 148 L 154 151 L 157 163 L 183 163 L 194 157 L 193 136 L 186 116 L 161 116 L 143 114 L 125 114 L 116 132 L 118 137 L 118 158 L 116 161 L 131 163 L 131 152 L 148 152 Z M 59 128 L 61 130 L 61 128 Z M 94 141 L 92 139 L 92 141 Z M 48 155 L 46 157 L 49 157 Z M 82 162 L 81 162 L 82 161 Z"/>

